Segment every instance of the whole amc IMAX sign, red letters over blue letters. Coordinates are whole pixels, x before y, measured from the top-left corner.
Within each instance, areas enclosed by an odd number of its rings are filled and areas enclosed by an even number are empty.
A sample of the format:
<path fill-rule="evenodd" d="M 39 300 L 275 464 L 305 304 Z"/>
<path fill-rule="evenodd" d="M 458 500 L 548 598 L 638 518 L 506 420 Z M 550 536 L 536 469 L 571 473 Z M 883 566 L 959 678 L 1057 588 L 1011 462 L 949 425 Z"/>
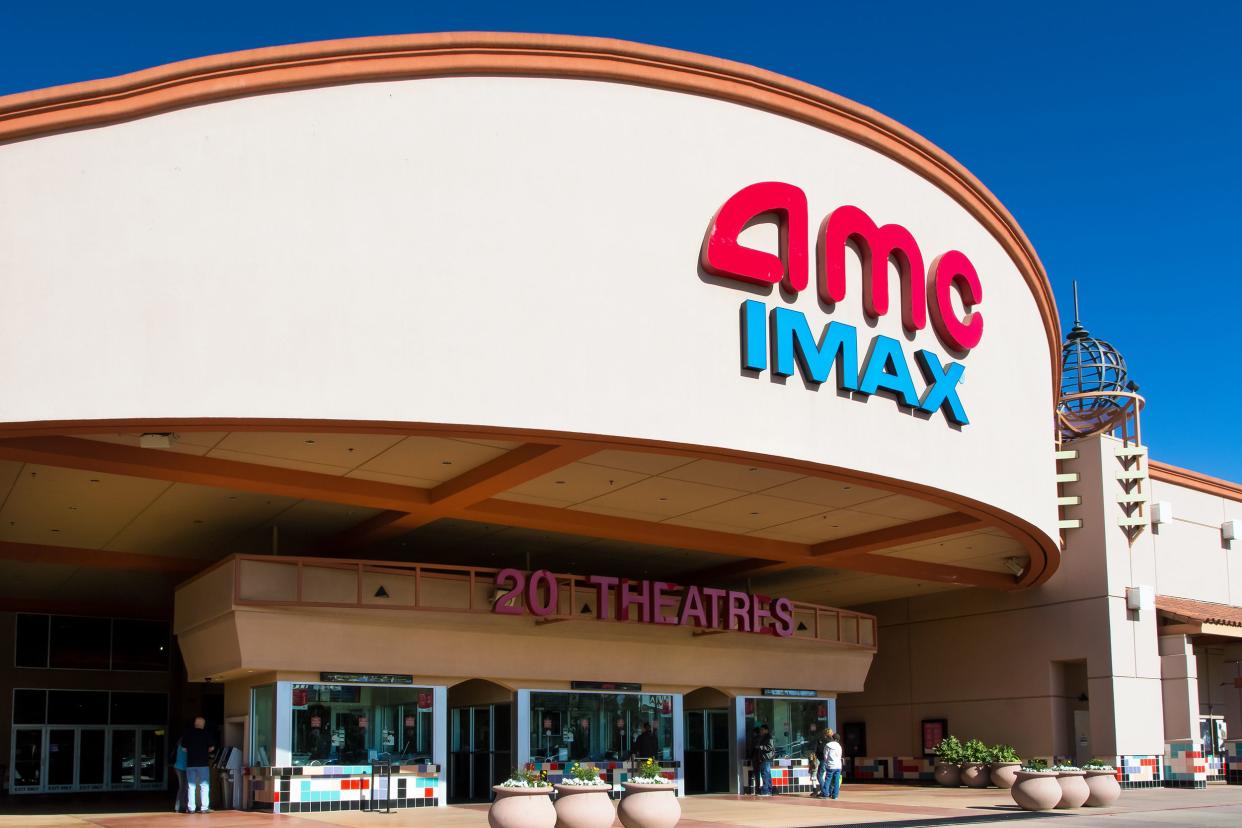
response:
<path fill-rule="evenodd" d="M 745 247 L 741 231 L 759 217 L 773 217 L 780 230 L 780 251 Z M 806 194 L 792 184 L 765 181 L 743 187 L 715 214 L 703 241 L 703 269 L 712 276 L 748 284 L 781 284 L 795 297 L 810 283 L 810 220 Z M 832 308 L 845 300 L 846 251 L 853 247 L 862 262 L 862 307 L 871 319 L 889 310 L 889 262 L 900 282 L 902 326 L 914 334 L 930 320 L 940 343 L 955 356 L 965 356 L 984 335 L 984 317 L 975 310 L 984 299 L 982 284 L 965 253 L 948 251 L 924 269 L 923 252 L 900 225 L 877 226 L 853 206 L 837 207 L 823 218 L 816 237 L 817 290 Z M 958 317 L 953 297 L 965 313 Z M 958 394 L 965 374 L 960 362 L 943 362 L 934 353 L 914 353 L 923 377 L 918 394 L 902 344 L 892 336 L 873 336 L 859 364 L 858 330 L 830 322 L 816 336 L 806 315 L 791 308 L 773 308 L 753 299 L 741 303 L 741 364 L 749 371 L 770 370 L 792 376 L 795 365 L 814 384 L 836 372 L 837 387 L 873 395 L 886 391 L 898 405 L 935 413 L 958 426 L 970 422 Z M 770 358 L 770 361 L 769 361 Z"/>

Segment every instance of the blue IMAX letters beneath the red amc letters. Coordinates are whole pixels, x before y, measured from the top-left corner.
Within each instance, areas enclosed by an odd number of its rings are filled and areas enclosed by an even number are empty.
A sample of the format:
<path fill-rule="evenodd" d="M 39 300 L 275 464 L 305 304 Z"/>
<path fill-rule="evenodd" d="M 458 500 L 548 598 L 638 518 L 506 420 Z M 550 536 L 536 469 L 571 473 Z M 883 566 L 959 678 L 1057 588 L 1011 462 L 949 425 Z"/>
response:
<path fill-rule="evenodd" d="M 853 325 L 830 322 L 816 339 L 806 315 L 801 312 L 774 308 L 769 315 L 766 305 L 748 299 L 741 303 L 743 367 L 751 371 L 763 371 L 768 367 L 769 330 L 771 372 L 775 376 L 794 376 L 796 361 L 802 376 L 811 382 L 827 382 L 828 375 L 836 371 L 838 389 L 866 395 L 887 390 L 894 395 L 899 405 L 928 413 L 943 411 L 949 422 L 959 426 L 970 423 L 958 396 L 958 384 L 966 369 L 958 362 L 944 366 L 932 351 L 915 353 L 915 362 L 927 384 L 927 390 L 919 397 L 914 390 L 905 351 L 895 339 L 873 338 L 859 371 L 858 331 Z"/>

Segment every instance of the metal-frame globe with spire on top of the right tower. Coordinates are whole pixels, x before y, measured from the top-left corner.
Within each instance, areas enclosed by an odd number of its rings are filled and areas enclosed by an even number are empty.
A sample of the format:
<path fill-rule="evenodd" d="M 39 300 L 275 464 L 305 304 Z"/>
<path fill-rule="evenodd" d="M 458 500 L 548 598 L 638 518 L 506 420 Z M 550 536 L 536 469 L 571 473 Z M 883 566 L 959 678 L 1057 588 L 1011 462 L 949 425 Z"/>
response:
<path fill-rule="evenodd" d="M 1062 439 L 1113 431 L 1143 405 L 1139 386 L 1130 380 L 1125 358 L 1103 339 L 1090 335 L 1078 320 L 1074 284 L 1074 326 L 1061 346 L 1061 400 L 1057 421 Z"/>

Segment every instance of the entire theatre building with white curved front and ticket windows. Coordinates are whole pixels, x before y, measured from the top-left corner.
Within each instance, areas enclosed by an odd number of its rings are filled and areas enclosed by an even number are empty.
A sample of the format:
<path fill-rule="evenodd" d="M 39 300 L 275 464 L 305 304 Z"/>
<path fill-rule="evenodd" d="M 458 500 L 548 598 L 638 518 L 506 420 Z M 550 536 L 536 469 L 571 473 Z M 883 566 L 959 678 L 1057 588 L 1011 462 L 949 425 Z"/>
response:
<path fill-rule="evenodd" d="M 877 112 L 375 37 L 0 98 L 0 181 L 11 793 L 163 790 L 200 711 L 276 812 L 744 792 L 760 724 L 789 793 L 811 725 L 858 781 L 1240 761 L 1242 487 Z"/>

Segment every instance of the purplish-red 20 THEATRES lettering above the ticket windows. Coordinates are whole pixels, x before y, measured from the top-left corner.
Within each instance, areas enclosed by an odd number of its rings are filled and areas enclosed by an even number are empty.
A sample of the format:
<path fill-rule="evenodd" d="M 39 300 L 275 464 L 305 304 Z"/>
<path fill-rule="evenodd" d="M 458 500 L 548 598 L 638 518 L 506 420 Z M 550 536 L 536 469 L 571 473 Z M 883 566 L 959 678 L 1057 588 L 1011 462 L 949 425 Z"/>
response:
<path fill-rule="evenodd" d="M 565 577 L 574 576 L 560 576 Z M 591 575 L 585 580 L 586 591 L 595 593 L 599 621 L 693 626 L 781 638 L 794 634 L 794 603 L 789 598 L 606 575 Z M 492 605 L 494 613 L 520 616 L 529 612 L 546 618 L 559 612 L 560 580 L 548 570 L 537 570 L 529 577 L 522 570 L 501 570 L 496 574 L 496 587 L 502 592 Z"/>

